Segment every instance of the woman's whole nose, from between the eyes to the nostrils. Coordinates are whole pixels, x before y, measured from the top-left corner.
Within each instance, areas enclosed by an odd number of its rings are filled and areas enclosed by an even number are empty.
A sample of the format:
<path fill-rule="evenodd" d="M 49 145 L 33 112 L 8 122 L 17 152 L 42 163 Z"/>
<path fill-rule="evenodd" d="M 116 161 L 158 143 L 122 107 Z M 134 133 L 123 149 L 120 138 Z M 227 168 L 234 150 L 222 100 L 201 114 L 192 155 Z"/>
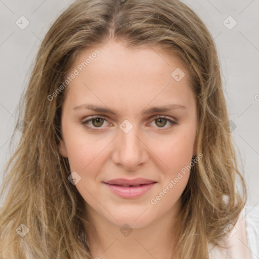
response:
<path fill-rule="evenodd" d="M 134 169 L 147 160 L 145 145 L 140 141 L 138 127 L 128 121 L 122 122 L 114 150 L 114 162 L 127 169 Z"/>

